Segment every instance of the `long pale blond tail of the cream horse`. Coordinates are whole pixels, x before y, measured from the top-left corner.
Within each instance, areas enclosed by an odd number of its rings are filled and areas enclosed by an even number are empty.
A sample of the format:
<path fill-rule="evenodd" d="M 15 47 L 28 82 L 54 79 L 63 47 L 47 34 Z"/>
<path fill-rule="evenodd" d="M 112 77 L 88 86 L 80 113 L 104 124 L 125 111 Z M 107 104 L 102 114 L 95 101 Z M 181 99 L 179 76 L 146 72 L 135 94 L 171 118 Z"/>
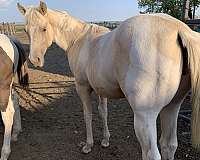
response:
<path fill-rule="evenodd" d="M 182 45 L 187 49 L 192 87 L 192 145 L 200 149 L 200 35 L 179 31 Z"/>

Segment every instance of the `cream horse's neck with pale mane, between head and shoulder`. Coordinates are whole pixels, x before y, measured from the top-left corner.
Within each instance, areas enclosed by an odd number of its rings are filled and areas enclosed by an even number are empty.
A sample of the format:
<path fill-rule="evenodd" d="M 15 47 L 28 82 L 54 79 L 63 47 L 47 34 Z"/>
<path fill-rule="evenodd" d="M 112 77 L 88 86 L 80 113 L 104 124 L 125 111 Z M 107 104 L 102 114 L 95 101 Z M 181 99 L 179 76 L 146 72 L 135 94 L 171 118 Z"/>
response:
<path fill-rule="evenodd" d="M 70 68 L 74 72 L 83 45 L 87 42 L 90 43 L 92 39 L 105 32 L 109 32 L 109 29 L 81 22 L 64 13 L 51 12 L 50 22 L 53 27 L 54 41 L 67 52 Z M 84 61 L 84 63 L 87 62 Z"/>

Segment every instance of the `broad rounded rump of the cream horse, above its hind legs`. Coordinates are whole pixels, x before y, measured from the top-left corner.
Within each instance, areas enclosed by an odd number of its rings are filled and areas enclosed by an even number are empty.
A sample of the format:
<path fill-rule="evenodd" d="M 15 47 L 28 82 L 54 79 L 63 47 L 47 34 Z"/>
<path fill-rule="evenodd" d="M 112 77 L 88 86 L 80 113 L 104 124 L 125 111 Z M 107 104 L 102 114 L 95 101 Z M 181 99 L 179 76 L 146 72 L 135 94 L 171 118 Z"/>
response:
<path fill-rule="evenodd" d="M 177 25 L 154 16 L 138 16 L 115 32 L 114 64 L 122 91 L 133 109 L 160 110 L 180 84 L 183 61 Z"/>

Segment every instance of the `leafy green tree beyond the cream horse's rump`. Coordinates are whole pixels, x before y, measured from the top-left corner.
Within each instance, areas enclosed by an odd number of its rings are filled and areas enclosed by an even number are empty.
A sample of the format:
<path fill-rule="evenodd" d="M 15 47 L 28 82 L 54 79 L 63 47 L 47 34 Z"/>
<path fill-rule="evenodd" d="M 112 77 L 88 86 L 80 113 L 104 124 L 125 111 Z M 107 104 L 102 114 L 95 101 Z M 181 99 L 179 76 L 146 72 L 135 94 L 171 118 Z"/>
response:
<path fill-rule="evenodd" d="M 140 9 L 143 10 L 144 13 L 161 12 L 167 13 L 178 19 L 183 19 L 183 5 L 186 1 L 189 0 L 139 0 L 138 6 Z M 190 16 L 190 18 L 194 17 L 196 7 L 198 7 L 199 5 L 200 0 L 190 0 L 190 5 L 188 8 L 188 15 Z"/>

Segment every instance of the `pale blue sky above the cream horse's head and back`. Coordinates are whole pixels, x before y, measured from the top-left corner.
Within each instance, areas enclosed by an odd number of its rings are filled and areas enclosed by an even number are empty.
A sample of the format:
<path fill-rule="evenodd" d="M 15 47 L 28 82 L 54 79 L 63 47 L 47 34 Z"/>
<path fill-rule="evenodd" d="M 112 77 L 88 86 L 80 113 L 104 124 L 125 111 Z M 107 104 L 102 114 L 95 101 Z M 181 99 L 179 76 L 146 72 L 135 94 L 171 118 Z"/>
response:
<path fill-rule="evenodd" d="M 0 22 L 23 22 L 17 2 L 38 5 L 39 0 L 0 0 Z M 66 10 L 85 21 L 121 21 L 139 13 L 137 0 L 46 0 L 52 9 Z"/>

